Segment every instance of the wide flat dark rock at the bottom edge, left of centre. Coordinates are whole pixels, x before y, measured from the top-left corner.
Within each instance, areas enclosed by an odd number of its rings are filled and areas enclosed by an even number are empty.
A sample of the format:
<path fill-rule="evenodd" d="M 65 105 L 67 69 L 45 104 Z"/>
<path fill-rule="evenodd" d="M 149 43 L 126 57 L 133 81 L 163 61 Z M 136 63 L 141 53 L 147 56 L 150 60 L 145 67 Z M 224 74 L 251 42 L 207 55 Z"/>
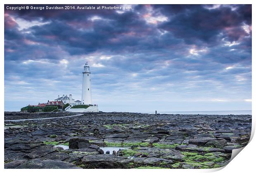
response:
<path fill-rule="evenodd" d="M 17 169 L 79 169 L 76 165 L 64 161 L 31 159 L 22 162 Z"/>

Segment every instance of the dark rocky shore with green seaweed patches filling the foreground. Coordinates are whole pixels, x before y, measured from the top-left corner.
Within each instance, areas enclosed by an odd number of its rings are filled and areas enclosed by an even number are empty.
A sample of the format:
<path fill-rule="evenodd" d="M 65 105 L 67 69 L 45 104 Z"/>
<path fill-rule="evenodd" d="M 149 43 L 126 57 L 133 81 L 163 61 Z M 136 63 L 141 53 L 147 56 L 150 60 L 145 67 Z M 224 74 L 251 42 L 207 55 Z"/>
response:
<path fill-rule="evenodd" d="M 69 115 L 5 112 L 5 120 Z M 250 133 L 251 115 L 97 112 L 5 122 L 5 168 L 218 168 Z M 126 149 L 104 153 L 110 146 Z"/>

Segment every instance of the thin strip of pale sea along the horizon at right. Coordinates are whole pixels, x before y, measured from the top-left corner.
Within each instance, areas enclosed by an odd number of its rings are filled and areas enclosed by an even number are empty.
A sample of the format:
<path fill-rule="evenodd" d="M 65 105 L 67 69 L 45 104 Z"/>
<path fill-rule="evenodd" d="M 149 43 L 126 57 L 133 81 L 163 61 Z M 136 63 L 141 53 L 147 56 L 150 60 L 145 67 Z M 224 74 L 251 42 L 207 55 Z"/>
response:
<path fill-rule="evenodd" d="M 154 114 L 155 112 L 140 112 Z M 251 115 L 251 110 L 212 110 L 212 111 L 168 111 L 157 112 L 158 114 L 181 114 L 181 115 Z"/>

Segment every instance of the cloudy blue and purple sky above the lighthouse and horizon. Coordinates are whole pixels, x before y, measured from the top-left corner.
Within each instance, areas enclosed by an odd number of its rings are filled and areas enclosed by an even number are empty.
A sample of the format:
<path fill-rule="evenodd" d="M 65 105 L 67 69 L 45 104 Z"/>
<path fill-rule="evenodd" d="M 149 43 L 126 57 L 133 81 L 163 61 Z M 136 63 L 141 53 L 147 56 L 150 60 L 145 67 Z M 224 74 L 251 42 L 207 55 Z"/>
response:
<path fill-rule="evenodd" d="M 81 100 L 87 61 L 101 111 L 251 110 L 251 5 L 7 6 L 5 111 Z"/>

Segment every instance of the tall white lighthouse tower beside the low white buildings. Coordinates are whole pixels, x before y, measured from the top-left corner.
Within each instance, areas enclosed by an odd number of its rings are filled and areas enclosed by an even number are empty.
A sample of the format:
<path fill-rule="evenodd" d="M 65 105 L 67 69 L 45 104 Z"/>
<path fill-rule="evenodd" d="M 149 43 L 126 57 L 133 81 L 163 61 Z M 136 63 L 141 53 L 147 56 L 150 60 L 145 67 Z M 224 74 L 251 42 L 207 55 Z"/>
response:
<path fill-rule="evenodd" d="M 92 104 L 91 72 L 88 62 L 83 67 L 82 104 Z"/>

